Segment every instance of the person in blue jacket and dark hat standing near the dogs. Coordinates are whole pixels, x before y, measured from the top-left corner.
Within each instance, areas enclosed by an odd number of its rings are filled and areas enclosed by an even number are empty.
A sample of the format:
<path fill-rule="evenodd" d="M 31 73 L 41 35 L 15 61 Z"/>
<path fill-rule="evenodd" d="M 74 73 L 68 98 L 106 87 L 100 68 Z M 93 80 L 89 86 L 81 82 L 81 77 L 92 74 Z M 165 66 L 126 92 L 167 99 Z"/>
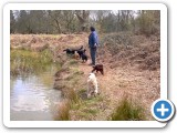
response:
<path fill-rule="evenodd" d="M 92 63 L 90 65 L 95 65 L 96 50 L 98 45 L 98 37 L 97 37 L 97 33 L 94 27 L 91 27 L 90 30 L 91 30 L 91 34 L 88 37 L 88 47 L 90 47 L 91 59 L 92 59 Z"/>

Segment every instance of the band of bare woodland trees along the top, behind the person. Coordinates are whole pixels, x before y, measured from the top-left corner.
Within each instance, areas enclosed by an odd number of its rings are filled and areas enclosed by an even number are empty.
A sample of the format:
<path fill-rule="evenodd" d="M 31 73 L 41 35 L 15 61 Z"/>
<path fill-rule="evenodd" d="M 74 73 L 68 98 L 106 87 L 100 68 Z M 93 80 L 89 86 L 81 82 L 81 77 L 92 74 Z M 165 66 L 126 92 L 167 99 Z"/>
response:
<path fill-rule="evenodd" d="M 94 25 L 98 32 L 159 32 L 158 10 L 20 10 L 10 11 L 10 32 L 73 33 Z"/>

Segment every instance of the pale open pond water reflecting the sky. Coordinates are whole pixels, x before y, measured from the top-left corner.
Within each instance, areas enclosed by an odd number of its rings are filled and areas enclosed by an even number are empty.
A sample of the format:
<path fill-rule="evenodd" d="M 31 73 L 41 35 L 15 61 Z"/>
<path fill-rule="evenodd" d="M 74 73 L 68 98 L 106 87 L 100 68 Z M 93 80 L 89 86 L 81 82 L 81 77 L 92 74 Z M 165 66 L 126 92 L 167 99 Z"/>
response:
<path fill-rule="evenodd" d="M 11 78 L 11 121 L 52 121 L 56 115 L 61 92 L 52 89 L 53 74 L 44 72 L 28 78 Z"/>

